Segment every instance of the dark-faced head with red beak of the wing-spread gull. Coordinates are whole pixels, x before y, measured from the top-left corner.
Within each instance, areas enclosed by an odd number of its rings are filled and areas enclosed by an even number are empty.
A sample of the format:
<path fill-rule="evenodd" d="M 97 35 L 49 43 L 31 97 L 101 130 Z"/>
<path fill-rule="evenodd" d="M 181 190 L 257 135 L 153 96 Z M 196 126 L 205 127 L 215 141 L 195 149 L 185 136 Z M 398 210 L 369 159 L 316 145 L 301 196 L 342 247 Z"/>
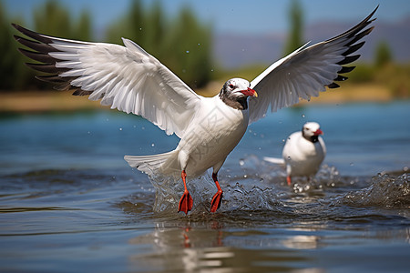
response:
<path fill-rule="evenodd" d="M 250 82 L 243 78 L 231 78 L 220 89 L 220 99 L 235 109 L 246 110 L 248 96 L 258 96 L 258 94 L 251 89 Z"/>

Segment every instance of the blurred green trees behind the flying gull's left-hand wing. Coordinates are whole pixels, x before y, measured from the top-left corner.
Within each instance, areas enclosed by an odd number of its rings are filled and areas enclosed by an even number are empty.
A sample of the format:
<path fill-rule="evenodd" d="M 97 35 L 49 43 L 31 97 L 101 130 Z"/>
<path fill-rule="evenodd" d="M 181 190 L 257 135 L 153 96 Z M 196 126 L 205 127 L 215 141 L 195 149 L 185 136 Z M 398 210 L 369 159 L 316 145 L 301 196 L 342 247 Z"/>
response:
<path fill-rule="evenodd" d="M 0 1 L 0 91 L 49 88 L 34 77 L 36 73 L 24 63 L 33 62 L 22 56 L 13 39 L 17 34 L 12 22 L 27 25 L 24 18 L 9 18 Z M 49 0 L 33 10 L 30 28 L 46 35 L 67 39 L 95 41 L 91 15 L 84 10 L 73 16 L 60 3 Z M 159 1 L 145 7 L 140 0 L 131 2 L 127 14 L 108 26 L 103 41 L 122 44 L 121 36 L 135 41 L 168 66 L 192 87 L 206 85 L 211 75 L 211 26 L 200 22 L 189 7 L 169 18 Z"/>

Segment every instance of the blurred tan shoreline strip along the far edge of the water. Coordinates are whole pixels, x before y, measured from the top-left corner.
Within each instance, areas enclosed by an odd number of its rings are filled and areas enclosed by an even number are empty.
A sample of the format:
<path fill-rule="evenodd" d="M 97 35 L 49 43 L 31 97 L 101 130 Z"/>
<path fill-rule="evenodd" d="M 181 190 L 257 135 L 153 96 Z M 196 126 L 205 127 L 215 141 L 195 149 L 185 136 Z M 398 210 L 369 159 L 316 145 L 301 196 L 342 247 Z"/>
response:
<path fill-rule="evenodd" d="M 221 84 L 210 83 L 203 89 L 196 90 L 202 96 L 214 96 Z M 71 92 L 72 93 L 72 92 Z M 69 91 L 32 90 L 25 92 L 1 93 L 0 113 L 36 113 L 54 111 L 77 111 L 93 109 L 109 109 L 101 106 L 99 101 L 90 101 L 87 97 L 72 96 Z M 384 86 L 374 84 L 344 85 L 340 88 L 327 90 L 318 97 L 312 97 L 310 102 L 302 100 L 298 105 L 305 104 L 337 104 L 349 102 L 389 102 L 397 99 Z M 405 99 L 408 99 L 405 98 Z M 298 106 L 296 105 L 296 106 Z"/>

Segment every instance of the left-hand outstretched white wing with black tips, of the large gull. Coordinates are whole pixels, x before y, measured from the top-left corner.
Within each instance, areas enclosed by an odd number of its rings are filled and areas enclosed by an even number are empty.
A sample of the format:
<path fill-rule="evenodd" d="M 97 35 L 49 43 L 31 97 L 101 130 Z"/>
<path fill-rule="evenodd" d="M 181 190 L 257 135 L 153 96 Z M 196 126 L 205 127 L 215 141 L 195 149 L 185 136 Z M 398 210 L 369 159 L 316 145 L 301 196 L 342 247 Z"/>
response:
<path fill-rule="evenodd" d="M 181 137 L 190 124 L 201 96 L 175 76 L 159 60 L 134 42 L 124 45 L 87 43 L 41 35 L 13 25 L 29 40 L 15 35 L 19 50 L 41 64 L 28 66 L 51 74 L 37 76 L 58 90 L 75 88 L 75 96 L 101 99 L 101 105 L 134 113 Z"/>

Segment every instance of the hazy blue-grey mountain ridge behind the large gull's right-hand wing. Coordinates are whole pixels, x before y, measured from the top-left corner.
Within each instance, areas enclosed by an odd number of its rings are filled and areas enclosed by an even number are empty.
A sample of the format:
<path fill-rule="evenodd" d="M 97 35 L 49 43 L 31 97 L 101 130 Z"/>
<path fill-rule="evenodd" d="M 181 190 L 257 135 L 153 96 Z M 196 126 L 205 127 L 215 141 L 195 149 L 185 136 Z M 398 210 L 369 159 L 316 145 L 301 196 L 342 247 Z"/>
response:
<path fill-rule="evenodd" d="M 398 63 L 410 62 L 410 15 L 396 23 L 377 20 L 373 24 L 374 32 L 366 36 L 366 44 L 358 51 L 360 61 L 372 63 L 375 50 L 381 42 L 387 42 L 394 60 Z M 303 34 L 310 45 L 332 38 L 354 25 L 340 22 L 321 21 L 304 28 Z M 284 56 L 284 45 L 287 34 L 272 33 L 269 35 L 214 35 L 213 57 L 217 64 L 224 68 L 251 66 L 254 64 L 270 65 Z M 309 37 L 309 39 L 306 39 Z"/>

